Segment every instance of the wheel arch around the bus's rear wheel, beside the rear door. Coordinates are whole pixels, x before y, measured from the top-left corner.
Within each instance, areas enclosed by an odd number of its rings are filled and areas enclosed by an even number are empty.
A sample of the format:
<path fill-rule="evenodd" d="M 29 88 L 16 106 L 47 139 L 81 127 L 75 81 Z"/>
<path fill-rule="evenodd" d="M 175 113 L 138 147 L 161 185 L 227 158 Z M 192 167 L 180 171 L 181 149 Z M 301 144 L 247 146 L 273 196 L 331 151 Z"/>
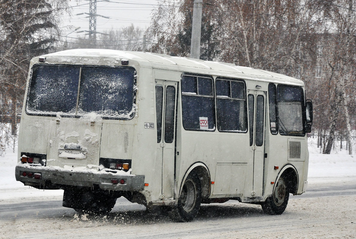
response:
<path fill-rule="evenodd" d="M 208 198 L 210 195 L 210 171 L 208 167 L 202 162 L 196 162 L 190 165 L 189 169 L 185 172 L 183 180 L 180 182 L 178 197 L 182 191 L 182 186 L 185 180 L 191 173 L 195 173 L 199 177 L 201 186 L 201 198 Z"/>

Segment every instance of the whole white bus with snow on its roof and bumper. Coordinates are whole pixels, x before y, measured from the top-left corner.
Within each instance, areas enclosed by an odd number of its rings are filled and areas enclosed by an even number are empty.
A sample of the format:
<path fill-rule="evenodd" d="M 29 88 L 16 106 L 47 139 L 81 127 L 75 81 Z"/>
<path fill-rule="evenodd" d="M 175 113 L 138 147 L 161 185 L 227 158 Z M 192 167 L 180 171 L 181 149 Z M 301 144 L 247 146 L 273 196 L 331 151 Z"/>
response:
<path fill-rule="evenodd" d="M 304 83 L 234 64 L 75 49 L 31 60 L 16 180 L 63 206 L 110 212 L 124 196 L 191 221 L 230 199 L 286 209 L 307 188 Z"/>

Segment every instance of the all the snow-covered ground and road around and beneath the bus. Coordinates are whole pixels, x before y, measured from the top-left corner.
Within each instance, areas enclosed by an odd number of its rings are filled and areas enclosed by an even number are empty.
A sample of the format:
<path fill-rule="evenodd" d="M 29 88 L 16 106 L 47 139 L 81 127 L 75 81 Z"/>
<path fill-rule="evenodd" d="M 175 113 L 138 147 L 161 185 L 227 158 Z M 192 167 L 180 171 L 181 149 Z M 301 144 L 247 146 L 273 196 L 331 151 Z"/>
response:
<path fill-rule="evenodd" d="M 61 207 L 62 190 L 37 190 L 17 182 L 17 154 L 7 151 L 0 156 L 0 207 L 14 207 L 15 213 L 0 213 L 0 239 L 356 238 L 356 154 L 335 149 L 322 155 L 315 139 L 309 141 L 309 192 L 291 196 L 282 215 L 268 216 L 258 205 L 229 201 L 203 205 L 190 223 L 146 213 L 143 206 L 122 198 L 108 217 L 78 217 L 73 209 Z M 323 190 L 329 195 L 318 194 Z"/>

